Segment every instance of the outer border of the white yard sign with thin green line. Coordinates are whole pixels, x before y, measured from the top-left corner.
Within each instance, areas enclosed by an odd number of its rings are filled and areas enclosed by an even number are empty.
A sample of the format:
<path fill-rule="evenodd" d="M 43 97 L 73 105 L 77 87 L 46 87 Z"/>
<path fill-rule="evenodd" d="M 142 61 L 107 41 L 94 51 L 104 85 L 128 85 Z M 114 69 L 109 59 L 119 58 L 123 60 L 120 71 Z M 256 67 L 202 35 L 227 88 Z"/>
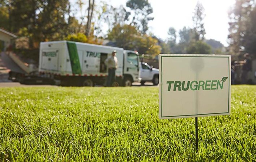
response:
<path fill-rule="evenodd" d="M 184 56 L 182 56 L 184 55 Z M 214 114 L 220 115 L 220 114 L 229 114 L 229 110 L 230 110 L 230 55 L 209 55 L 206 56 L 204 54 L 200 55 L 200 54 L 191 54 L 191 56 L 188 56 L 189 54 L 159 54 L 159 57 L 161 57 L 161 117 L 160 119 L 164 119 L 164 118 L 179 118 L 179 117 L 200 117 L 201 115 L 209 115 L 209 116 L 213 116 Z M 206 57 L 206 58 L 228 58 L 228 64 L 229 64 L 229 99 L 228 99 L 228 107 L 227 107 L 227 112 L 221 112 L 221 113 L 205 113 L 205 114 L 191 114 L 191 115 L 175 115 L 175 116 L 163 116 L 163 68 L 162 68 L 162 58 L 163 57 Z"/>

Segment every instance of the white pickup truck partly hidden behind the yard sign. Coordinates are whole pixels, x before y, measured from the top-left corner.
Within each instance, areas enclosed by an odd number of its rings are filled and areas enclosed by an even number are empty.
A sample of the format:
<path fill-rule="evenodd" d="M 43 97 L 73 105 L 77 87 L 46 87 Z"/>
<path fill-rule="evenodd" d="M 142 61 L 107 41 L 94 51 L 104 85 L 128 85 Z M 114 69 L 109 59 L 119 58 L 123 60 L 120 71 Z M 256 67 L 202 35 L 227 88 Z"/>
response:
<path fill-rule="evenodd" d="M 158 85 L 159 70 L 145 62 L 140 62 L 140 77 L 141 85 L 144 85 L 145 82 L 153 82 L 154 85 Z"/>

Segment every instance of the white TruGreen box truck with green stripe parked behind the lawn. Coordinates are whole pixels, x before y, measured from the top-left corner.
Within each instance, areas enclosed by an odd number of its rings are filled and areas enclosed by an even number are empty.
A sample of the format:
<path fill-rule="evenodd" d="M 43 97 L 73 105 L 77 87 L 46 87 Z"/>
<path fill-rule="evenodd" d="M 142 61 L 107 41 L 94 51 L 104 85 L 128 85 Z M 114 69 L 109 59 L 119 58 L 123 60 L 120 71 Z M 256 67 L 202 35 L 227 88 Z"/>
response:
<path fill-rule="evenodd" d="M 104 85 L 108 74 L 104 60 L 113 50 L 118 59 L 113 86 L 140 82 L 136 51 L 73 41 L 41 42 L 39 73 L 59 81 L 62 86 Z"/>

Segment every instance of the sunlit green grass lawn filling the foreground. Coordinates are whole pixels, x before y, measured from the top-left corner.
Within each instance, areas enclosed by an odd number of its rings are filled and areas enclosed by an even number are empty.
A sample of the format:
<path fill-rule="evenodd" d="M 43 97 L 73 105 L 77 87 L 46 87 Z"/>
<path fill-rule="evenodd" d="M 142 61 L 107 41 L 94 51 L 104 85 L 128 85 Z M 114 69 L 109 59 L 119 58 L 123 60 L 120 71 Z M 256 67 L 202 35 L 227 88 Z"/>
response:
<path fill-rule="evenodd" d="M 158 87 L 0 89 L 0 161 L 256 161 L 256 86 L 231 115 L 159 120 Z"/>

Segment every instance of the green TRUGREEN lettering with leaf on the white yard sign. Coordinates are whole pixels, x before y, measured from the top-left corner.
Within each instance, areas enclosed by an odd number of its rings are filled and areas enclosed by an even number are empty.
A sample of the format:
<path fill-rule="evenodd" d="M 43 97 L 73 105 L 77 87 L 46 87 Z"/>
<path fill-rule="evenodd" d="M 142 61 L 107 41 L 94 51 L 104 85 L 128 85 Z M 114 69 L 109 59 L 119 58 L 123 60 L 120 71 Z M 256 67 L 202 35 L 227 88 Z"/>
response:
<path fill-rule="evenodd" d="M 187 90 L 218 90 L 223 89 L 223 82 L 228 77 L 223 77 L 221 80 L 200 80 L 200 81 L 167 81 L 167 91 L 187 91 Z"/>

